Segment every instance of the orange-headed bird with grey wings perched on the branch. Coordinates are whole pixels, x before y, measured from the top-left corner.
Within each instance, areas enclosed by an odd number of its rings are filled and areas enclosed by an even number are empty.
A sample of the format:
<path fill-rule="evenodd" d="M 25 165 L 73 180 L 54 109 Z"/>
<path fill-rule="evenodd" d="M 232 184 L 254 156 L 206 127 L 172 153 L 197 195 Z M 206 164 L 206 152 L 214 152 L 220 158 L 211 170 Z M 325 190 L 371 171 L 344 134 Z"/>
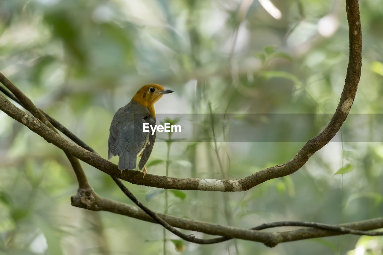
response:
<path fill-rule="evenodd" d="M 118 155 L 118 169 L 135 170 L 137 156 L 141 156 L 138 169 L 145 177 L 145 164 L 149 159 L 155 142 L 155 132 L 144 132 L 144 123 L 154 126 L 154 103 L 164 94 L 173 93 L 159 84 L 147 84 L 141 87 L 125 106 L 119 108 L 113 116 L 109 129 L 108 160 Z"/>

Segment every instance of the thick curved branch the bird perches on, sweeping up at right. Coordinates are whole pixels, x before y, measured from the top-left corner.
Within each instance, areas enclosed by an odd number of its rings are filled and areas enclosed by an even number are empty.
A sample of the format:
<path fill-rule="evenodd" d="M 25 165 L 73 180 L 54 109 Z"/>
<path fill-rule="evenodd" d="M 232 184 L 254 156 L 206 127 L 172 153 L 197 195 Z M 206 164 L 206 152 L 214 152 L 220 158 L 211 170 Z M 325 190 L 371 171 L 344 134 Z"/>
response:
<path fill-rule="evenodd" d="M 358 1 L 346 0 L 346 8 L 347 20 L 349 22 L 350 56 L 345 85 L 337 109 L 327 127 L 318 136 L 308 141 L 302 149 L 299 150 L 295 157 L 293 157 L 293 159 L 283 163 L 282 165 L 266 168 L 239 180 L 172 178 L 151 174 L 147 174 L 145 178 L 142 178 L 141 172 L 135 170 L 124 170 L 121 172 L 118 170 L 117 165 L 67 141 L 62 137 L 56 136 L 54 132 L 45 130 L 43 126 L 36 128 L 30 124 L 28 127 L 32 131 L 41 135 L 48 142 L 51 142 L 65 152 L 74 155 L 78 159 L 92 165 L 93 167 L 98 168 L 109 175 L 138 185 L 175 190 L 244 191 L 259 185 L 264 181 L 290 175 L 300 169 L 311 157 L 311 155 L 321 149 L 335 136 L 335 134 L 339 131 L 340 126 L 342 126 L 343 122 L 347 118 L 352 103 L 354 102 L 362 66 L 362 32 Z M 3 107 L 5 107 L 5 105 L 2 105 L 0 108 L 3 109 Z M 14 110 L 7 114 L 11 116 L 11 114 L 15 113 L 16 109 L 21 111 L 15 106 L 13 109 Z M 14 118 L 13 116 L 11 117 Z M 22 119 L 25 121 L 28 118 L 22 117 Z M 21 122 L 20 118 L 16 120 Z M 28 123 L 33 123 L 33 121 L 33 119 L 28 119 Z"/>

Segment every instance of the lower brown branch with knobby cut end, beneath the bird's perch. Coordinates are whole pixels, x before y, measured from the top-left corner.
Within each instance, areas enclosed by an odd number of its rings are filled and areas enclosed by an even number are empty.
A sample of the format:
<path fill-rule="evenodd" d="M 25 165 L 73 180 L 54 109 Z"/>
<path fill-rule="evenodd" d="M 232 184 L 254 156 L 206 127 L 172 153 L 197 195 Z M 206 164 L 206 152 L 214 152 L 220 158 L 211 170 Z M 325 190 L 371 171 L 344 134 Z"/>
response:
<path fill-rule="evenodd" d="M 124 204 L 118 201 L 102 198 L 93 191 L 92 188 L 88 190 L 79 189 L 79 192 L 72 196 L 71 202 L 73 206 L 85 208 L 93 211 L 108 211 L 113 212 L 142 221 L 158 223 L 142 209 L 129 204 Z M 327 224 L 320 224 L 315 222 L 296 222 L 296 221 L 283 221 L 262 224 L 253 229 L 241 229 L 238 227 L 222 226 L 204 221 L 196 221 L 192 219 L 185 219 L 176 216 L 170 216 L 162 213 L 156 213 L 158 217 L 166 221 L 173 227 L 181 229 L 203 232 L 210 235 L 222 235 L 216 239 L 208 239 L 210 242 L 225 241 L 230 238 L 251 240 L 262 242 L 268 247 L 273 247 L 278 243 L 290 242 L 295 240 L 311 239 L 317 237 L 326 237 L 341 234 L 363 234 L 363 235 L 382 235 L 382 232 L 371 232 L 365 230 L 379 229 L 383 227 L 383 217 L 369 219 L 367 221 L 352 222 L 332 226 Z M 311 226 L 319 229 L 298 229 L 285 232 L 261 232 L 259 230 L 270 227 L 281 226 Z M 328 230 L 324 230 L 328 229 Z M 362 232 L 360 230 L 363 230 Z M 341 233 L 343 232 L 343 233 Z"/>

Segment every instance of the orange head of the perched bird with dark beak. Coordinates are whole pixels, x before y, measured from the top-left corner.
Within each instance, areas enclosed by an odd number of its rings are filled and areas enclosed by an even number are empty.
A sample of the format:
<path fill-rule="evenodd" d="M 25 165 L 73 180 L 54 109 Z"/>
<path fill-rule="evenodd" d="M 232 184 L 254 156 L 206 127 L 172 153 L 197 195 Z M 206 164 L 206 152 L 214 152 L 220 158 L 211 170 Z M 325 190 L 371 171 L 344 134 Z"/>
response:
<path fill-rule="evenodd" d="M 164 94 L 172 93 L 173 90 L 165 90 L 159 84 L 147 84 L 140 88 L 132 100 L 137 101 L 140 105 L 145 106 L 154 114 L 154 103 L 157 102 Z"/>

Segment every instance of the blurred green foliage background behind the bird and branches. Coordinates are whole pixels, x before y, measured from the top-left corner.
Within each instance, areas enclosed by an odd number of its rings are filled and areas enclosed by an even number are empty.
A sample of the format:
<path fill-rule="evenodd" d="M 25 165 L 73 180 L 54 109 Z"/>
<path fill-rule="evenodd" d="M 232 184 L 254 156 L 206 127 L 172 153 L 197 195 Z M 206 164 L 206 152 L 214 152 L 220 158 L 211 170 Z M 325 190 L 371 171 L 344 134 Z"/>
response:
<path fill-rule="evenodd" d="M 142 85 L 160 83 L 175 93 L 157 102 L 162 114 L 157 123 L 167 114 L 205 114 L 195 124 L 210 140 L 157 139 L 149 173 L 238 179 L 290 160 L 305 141 L 214 142 L 212 127 L 225 134 L 226 122 L 206 113 L 309 113 L 308 132 L 315 135 L 324 127 L 317 114 L 334 112 L 344 85 L 349 52 L 344 1 L 270 3 L 2 0 L 0 70 L 102 157 L 115 111 Z M 361 0 L 360 10 L 362 77 L 351 113 L 379 114 L 383 5 Z M 0 123 L 2 254 L 382 252 L 381 237 L 351 235 L 275 248 L 244 240 L 188 244 L 169 232 L 164 236 L 156 224 L 72 207 L 77 183 L 64 153 L 2 112 Z M 282 220 L 370 219 L 383 212 L 383 145 L 373 142 L 374 125 L 367 126 L 368 141 L 349 142 L 340 134 L 298 172 L 241 193 L 126 185 L 155 211 L 244 228 Z M 82 165 L 99 195 L 131 204 L 108 175 Z"/>

